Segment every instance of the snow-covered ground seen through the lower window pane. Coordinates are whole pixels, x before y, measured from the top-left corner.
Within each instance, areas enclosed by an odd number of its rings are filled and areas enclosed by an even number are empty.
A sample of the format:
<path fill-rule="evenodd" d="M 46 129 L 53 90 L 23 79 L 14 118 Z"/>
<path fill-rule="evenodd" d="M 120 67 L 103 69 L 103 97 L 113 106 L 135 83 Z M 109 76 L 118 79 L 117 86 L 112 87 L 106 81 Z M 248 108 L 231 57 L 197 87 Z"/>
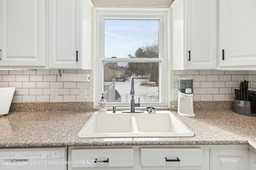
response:
<path fill-rule="evenodd" d="M 140 78 L 141 76 L 139 76 Z M 140 102 L 158 102 L 158 86 L 140 86 L 141 82 L 148 82 L 146 78 L 144 79 L 138 79 L 138 77 L 135 76 L 134 78 L 134 99 L 136 102 L 138 102 L 138 98 L 140 97 Z M 121 95 L 121 101 L 122 102 L 130 102 L 131 95 L 131 79 L 129 78 L 129 81 L 125 82 L 116 82 L 116 90 Z M 153 82 L 150 82 L 153 83 Z"/>

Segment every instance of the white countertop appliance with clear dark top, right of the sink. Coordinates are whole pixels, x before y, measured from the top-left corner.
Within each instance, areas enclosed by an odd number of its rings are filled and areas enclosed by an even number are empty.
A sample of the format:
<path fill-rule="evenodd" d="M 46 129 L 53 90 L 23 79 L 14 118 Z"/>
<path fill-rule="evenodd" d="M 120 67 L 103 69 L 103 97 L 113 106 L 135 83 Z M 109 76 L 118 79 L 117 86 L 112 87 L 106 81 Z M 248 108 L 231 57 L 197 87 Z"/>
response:
<path fill-rule="evenodd" d="M 178 113 L 186 117 L 194 117 L 193 108 L 193 79 L 178 79 Z"/>

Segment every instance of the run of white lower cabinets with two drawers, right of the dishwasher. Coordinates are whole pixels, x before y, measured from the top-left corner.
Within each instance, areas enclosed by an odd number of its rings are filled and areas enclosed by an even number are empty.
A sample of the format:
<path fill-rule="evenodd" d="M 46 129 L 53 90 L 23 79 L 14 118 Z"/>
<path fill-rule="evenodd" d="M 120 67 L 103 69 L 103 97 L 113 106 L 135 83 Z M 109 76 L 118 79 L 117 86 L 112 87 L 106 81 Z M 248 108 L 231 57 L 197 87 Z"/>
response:
<path fill-rule="evenodd" d="M 248 145 L 69 147 L 68 170 L 256 170 Z"/>

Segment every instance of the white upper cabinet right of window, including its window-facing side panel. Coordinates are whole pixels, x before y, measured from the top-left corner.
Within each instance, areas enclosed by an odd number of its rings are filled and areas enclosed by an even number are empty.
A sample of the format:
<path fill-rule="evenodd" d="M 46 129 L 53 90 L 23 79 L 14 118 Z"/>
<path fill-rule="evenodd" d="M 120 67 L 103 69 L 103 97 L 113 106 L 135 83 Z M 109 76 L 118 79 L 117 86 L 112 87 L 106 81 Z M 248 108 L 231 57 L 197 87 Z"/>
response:
<path fill-rule="evenodd" d="M 173 69 L 216 69 L 216 0 L 172 4 Z"/>

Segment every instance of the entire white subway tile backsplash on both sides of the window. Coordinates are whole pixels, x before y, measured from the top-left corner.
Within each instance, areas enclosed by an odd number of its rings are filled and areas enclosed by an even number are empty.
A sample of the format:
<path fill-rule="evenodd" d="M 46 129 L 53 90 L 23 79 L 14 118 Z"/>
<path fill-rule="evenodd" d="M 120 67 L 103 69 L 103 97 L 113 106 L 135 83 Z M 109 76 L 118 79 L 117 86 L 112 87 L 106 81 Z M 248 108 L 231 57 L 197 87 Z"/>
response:
<path fill-rule="evenodd" d="M 61 70 L 63 72 L 63 70 Z M 90 70 L 64 70 L 65 73 L 90 74 Z M 240 81 L 249 81 L 256 91 L 256 71 L 174 70 L 174 100 L 177 100 L 178 78 L 193 78 L 193 100 L 233 100 Z M 0 87 L 16 87 L 13 102 L 90 101 L 90 82 L 63 82 L 58 70 L 0 70 Z M 58 98 L 51 99 L 52 88 Z M 80 88 L 86 98 L 80 98 Z"/>

